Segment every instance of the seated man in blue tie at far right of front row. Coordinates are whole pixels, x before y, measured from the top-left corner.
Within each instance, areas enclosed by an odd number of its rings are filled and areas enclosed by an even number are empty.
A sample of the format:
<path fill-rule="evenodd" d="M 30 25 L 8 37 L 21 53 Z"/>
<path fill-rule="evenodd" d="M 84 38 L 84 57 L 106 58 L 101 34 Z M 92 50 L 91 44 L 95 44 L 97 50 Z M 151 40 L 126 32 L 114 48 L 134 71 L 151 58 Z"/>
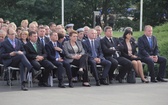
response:
<path fill-rule="evenodd" d="M 144 35 L 138 38 L 139 56 L 142 62 L 148 65 L 150 71 L 151 82 L 167 82 L 163 79 L 166 69 L 166 58 L 158 55 L 158 46 L 156 37 L 152 34 L 153 28 L 150 25 L 146 25 L 144 28 Z M 154 63 L 159 63 L 159 72 L 157 80 L 155 79 Z"/>

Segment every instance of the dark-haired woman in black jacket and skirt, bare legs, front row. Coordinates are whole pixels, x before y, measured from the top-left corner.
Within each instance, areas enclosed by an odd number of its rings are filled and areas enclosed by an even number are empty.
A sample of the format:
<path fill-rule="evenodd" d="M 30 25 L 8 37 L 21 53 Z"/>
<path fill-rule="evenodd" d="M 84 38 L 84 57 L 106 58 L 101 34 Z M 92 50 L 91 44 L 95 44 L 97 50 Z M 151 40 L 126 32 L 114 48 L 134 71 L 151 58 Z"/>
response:
<path fill-rule="evenodd" d="M 131 40 L 132 34 L 130 30 L 126 30 L 123 34 L 124 40 L 121 42 L 124 46 L 122 56 L 132 61 L 134 70 L 141 77 L 142 82 L 148 83 L 149 81 L 144 78 L 141 59 L 137 56 L 137 44 Z"/>

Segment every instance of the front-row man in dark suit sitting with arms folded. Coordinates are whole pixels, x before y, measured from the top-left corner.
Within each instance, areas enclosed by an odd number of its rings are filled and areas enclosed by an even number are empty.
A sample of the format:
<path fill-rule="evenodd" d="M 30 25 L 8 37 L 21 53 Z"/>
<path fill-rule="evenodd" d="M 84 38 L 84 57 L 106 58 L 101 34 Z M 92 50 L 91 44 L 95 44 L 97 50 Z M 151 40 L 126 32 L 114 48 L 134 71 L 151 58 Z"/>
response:
<path fill-rule="evenodd" d="M 119 70 L 119 75 L 116 77 L 116 79 L 120 83 L 122 83 L 122 79 L 124 78 L 126 73 L 131 71 L 132 63 L 130 60 L 120 56 L 123 46 L 119 42 L 118 38 L 113 37 L 112 27 L 106 26 L 104 28 L 104 32 L 105 37 L 102 38 L 100 41 L 105 58 L 112 63 L 112 71 L 109 73 L 109 79 L 112 79 L 112 74 L 114 70 L 117 68 L 118 64 L 120 64 L 124 69 Z"/>

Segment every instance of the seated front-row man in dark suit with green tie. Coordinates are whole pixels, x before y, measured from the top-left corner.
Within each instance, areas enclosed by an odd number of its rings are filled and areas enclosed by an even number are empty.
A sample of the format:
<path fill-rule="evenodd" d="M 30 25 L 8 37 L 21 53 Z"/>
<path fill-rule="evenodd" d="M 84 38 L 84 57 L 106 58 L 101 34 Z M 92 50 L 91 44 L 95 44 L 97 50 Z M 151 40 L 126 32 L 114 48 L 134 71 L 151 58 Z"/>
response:
<path fill-rule="evenodd" d="M 45 68 L 39 81 L 39 86 L 48 87 L 48 76 L 51 70 L 55 69 L 54 65 L 47 60 L 45 47 L 37 42 L 37 33 L 29 32 L 30 41 L 25 44 L 26 56 L 36 70 L 40 70 L 41 66 Z"/>

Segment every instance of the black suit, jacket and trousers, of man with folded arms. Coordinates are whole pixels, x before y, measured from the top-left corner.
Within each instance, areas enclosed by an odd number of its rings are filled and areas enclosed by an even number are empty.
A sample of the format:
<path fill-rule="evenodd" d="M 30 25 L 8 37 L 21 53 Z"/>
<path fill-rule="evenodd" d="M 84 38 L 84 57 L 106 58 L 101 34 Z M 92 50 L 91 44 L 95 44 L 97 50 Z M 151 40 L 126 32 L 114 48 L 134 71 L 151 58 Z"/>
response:
<path fill-rule="evenodd" d="M 116 51 L 118 51 L 119 52 L 118 54 L 120 54 L 123 49 L 123 46 L 121 42 L 119 42 L 118 38 L 112 38 L 112 39 L 113 39 L 113 42 L 110 42 L 107 37 L 104 37 L 103 39 L 100 40 L 102 51 L 105 58 L 111 61 L 112 63 L 111 69 L 113 72 L 117 68 L 118 64 L 124 67 L 123 70 L 119 71 L 119 75 L 117 76 L 117 78 L 123 78 L 125 74 L 132 69 L 132 63 L 130 60 L 124 57 L 121 57 L 121 56 L 117 57 Z M 115 50 L 112 49 L 112 47 L 114 47 Z M 109 74 L 109 77 L 112 78 L 111 74 L 113 74 L 113 72 Z"/>

